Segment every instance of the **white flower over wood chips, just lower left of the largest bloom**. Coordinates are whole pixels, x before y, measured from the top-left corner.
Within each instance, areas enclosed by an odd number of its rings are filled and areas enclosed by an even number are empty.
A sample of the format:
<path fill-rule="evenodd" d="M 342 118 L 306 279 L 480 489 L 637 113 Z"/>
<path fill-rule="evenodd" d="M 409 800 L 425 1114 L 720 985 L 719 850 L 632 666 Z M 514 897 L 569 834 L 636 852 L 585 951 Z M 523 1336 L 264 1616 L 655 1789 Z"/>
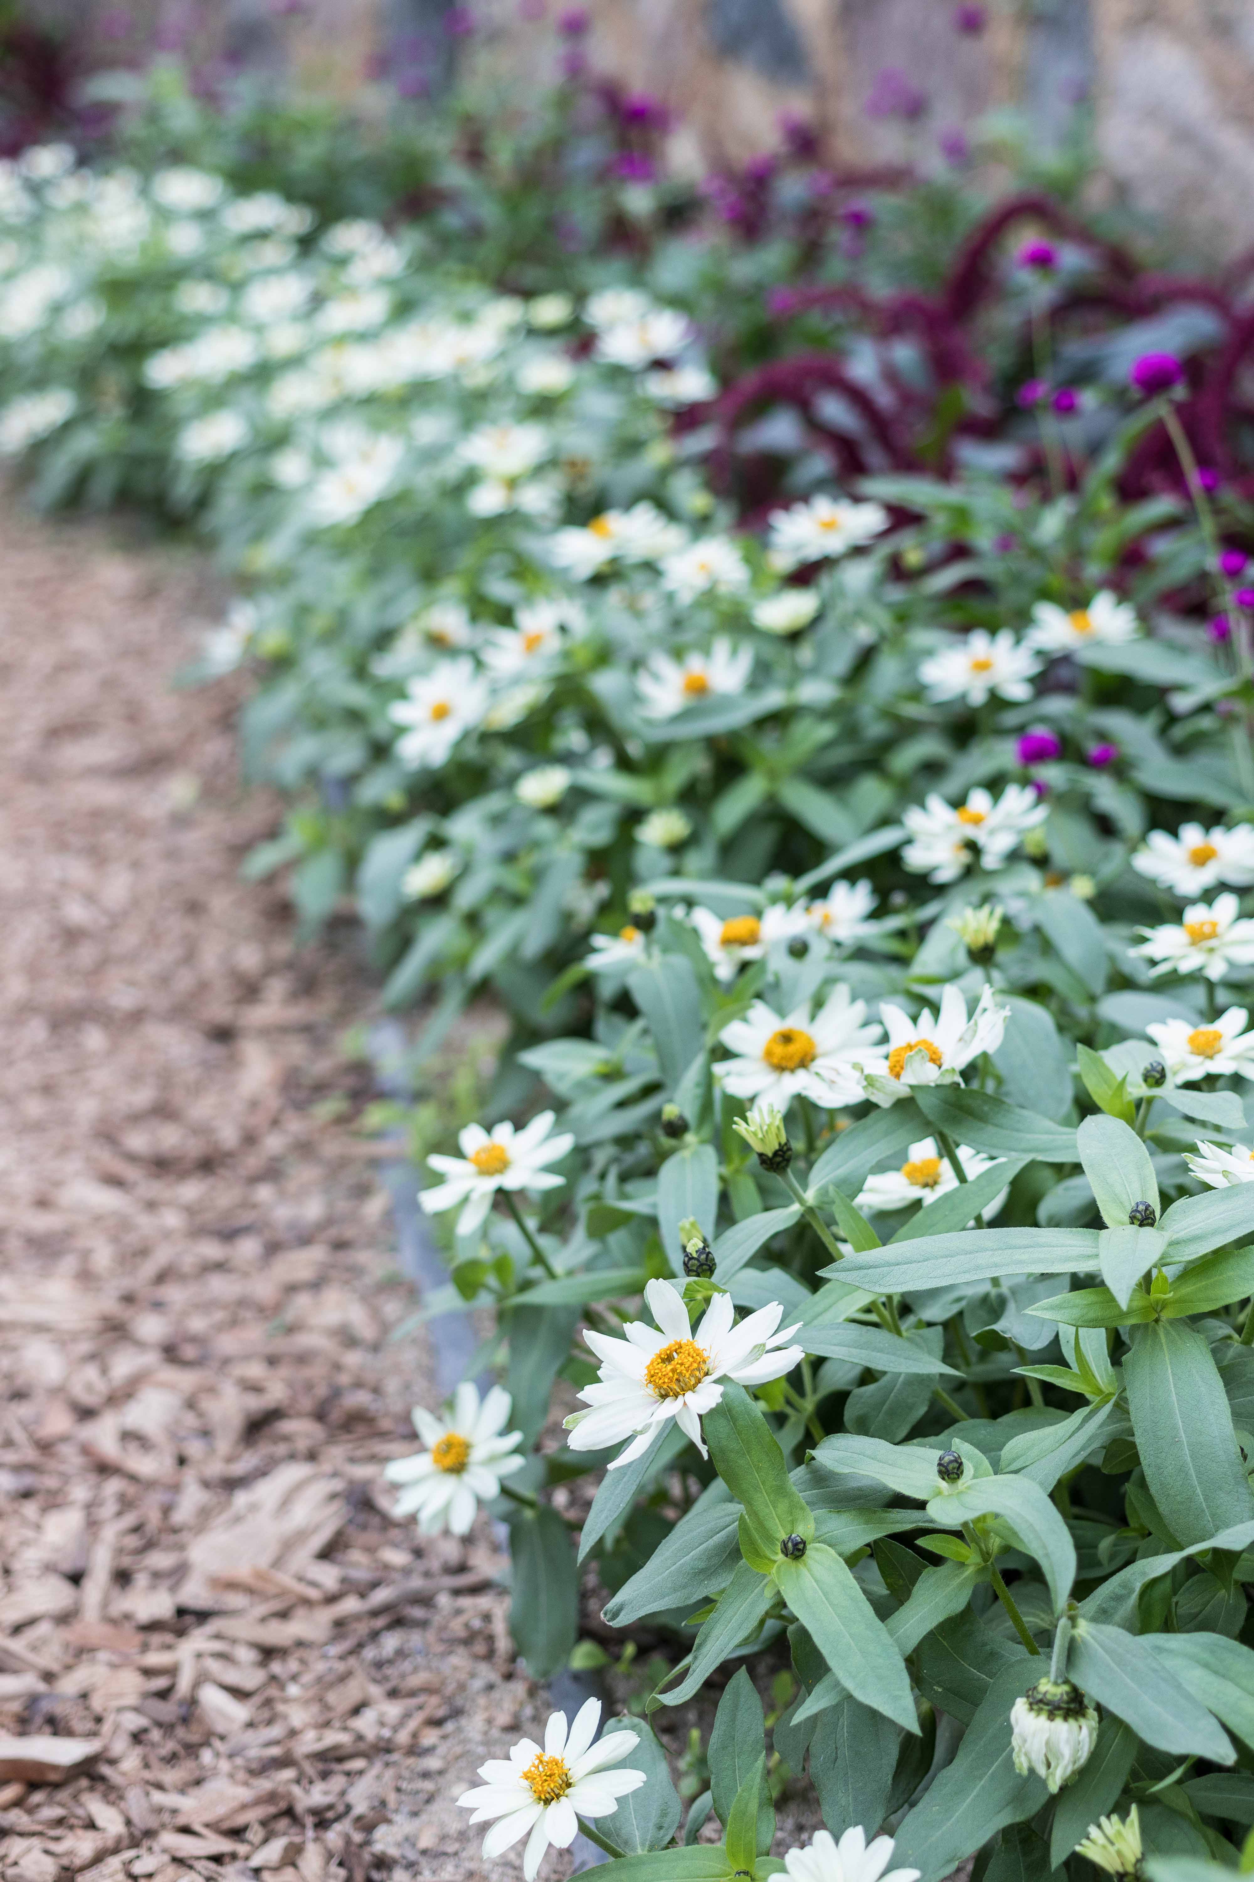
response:
<path fill-rule="evenodd" d="M 414 1430 L 425 1449 L 384 1464 L 387 1481 L 400 1487 L 393 1515 L 417 1517 L 423 1536 L 446 1528 L 464 1536 L 479 1504 L 500 1496 L 500 1479 L 526 1462 L 517 1455 L 523 1432 L 504 1428 L 509 1412 L 509 1393 L 500 1385 L 493 1385 L 479 1404 L 479 1391 L 470 1383 L 457 1387 L 449 1417 L 414 1406 Z"/>

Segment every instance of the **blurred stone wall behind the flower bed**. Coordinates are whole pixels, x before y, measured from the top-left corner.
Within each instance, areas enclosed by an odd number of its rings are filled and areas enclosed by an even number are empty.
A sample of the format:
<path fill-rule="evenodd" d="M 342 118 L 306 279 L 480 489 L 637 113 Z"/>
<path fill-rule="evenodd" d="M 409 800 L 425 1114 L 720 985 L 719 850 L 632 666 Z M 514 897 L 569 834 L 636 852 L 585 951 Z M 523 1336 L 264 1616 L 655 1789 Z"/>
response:
<path fill-rule="evenodd" d="M 566 4 L 30 0 L 39 19 L 88 21 L 103 53 L 128 13 L 130 47 L 196 38 L 344 98 L 389 58 L 436 87 L 455 58 L 478 60 L 525 94 L 553 70 Z M 466 11 L 478 30 L 461 38 L 447 15 Z M 1083 107 L 1107 175 L 1175 228 L 1183 258 L 1254 247 L 1254 0 L 983 0 L 981 30 L 957 24 L 961 0 L 587 0 L 587 11 L 592 66 L 675 111 L 686 167 L 769 149 L 784 111 L 814 120 L 844 164 L 940 167 L 989 111 L 1015 107 L 1057 145 Z"/>

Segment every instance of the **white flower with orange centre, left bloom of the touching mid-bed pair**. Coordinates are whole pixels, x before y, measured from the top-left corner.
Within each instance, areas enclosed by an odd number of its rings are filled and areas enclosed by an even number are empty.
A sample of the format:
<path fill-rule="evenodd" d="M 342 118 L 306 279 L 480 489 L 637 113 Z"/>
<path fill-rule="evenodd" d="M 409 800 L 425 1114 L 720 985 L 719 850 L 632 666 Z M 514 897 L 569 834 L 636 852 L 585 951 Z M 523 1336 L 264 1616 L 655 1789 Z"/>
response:
<path fill-rule="evenodd" d="M 850 999 L 840 984 L 818 1013 L 808 1003 L 780 1016 L 756 999 L 743 1020 L 733 1020 L 718 1035 L 735 1058 L 714 1067 L 731 1097 L 767 1099 L 788 1110 L 793 1097 L 812 1097 L 825 1110 L 855 1105 L 863 1095 L 863 1073 L 887 1073 L 876 1054 L 884 1028 L 867 1024 L 867 1001 Z"/>

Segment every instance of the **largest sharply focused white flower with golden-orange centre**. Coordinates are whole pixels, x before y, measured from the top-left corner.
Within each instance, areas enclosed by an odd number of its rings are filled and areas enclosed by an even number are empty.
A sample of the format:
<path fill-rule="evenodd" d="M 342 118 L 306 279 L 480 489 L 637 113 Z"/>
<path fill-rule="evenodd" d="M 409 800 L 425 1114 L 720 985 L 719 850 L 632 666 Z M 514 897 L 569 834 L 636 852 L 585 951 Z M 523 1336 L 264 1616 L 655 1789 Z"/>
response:
<path fill-rule="evenodd" d="M 786 1346 L 797 1327 L 776 1332 L 784 1317 L 778 1300 L 760 1306 L 737 1327 L 731 1295 L 716 1293 L 696 1331 L 688 1325 L 684 1297 L 671 1282 L 649 1282 L 645 1300 L 658 1331 L 634 1319 L 622 1329 L 626 1340 L 592 1331 L 583 1334 L 602 1363 L 602 1376 L 577 1395 L 588 1410 L 566 1419 L 566 1442 L 572 1451 L 600 1451 L 632 1438 L 609 1464 L 611 1470 L 643 1457 L 667 1419 L 675 1419 L 707 1457 L 701 1417 L 722 1398 L 722 1381 L 754 1391 L 769 1380 L 782 1380 L 803 1357 L 801 1346 Z"/>

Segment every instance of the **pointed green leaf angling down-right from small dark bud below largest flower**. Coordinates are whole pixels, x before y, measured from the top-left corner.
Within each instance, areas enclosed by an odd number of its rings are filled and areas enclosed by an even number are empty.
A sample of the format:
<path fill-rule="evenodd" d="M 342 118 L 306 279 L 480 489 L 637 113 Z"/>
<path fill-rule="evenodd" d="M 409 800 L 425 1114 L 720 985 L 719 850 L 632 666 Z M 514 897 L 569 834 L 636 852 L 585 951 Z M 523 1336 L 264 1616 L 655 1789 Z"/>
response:
<path fill-rule="evenodd" d="M 917 1731 L 910 1675 L 861 1587 L 825 1543 L 775 1564 L 780 1594 L 840 1684 L 863 1705 Z"/>

